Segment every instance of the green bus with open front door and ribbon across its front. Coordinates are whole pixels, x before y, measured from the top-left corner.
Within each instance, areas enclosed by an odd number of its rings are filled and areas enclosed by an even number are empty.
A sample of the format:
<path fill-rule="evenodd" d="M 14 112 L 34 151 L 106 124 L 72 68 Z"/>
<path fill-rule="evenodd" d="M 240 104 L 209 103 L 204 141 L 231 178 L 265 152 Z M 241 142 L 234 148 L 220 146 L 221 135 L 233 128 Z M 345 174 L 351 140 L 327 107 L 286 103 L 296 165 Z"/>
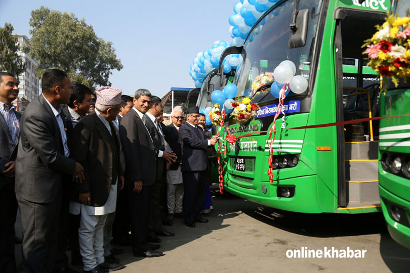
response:
<path fill-rule="evenodd" d="M 267 173 L 269 133 L 263 132 L 278 104 L 265 89 L 270 86 L 259 87 L 252 99 L 260 106 L 254 121 L 228 126 L 236 136 L 254 133 L 227 145 L 228 192 L 303 213 L 381 211 L 379 122 L 290 128 L 380 115 L 380 80 L 366 66 L 361 45 L 389 9 L 388 0 L 278 1 L 255 23 L 243 47 L 225 50 L 221 60 L 232 51 L 242 55 L 234 78 L 238 96 L 284 60 L 293 61 L 296 75 L 308 80 L 306 92 L 286 96 L 286 115 L 276 120 L 273 183 Z"/>

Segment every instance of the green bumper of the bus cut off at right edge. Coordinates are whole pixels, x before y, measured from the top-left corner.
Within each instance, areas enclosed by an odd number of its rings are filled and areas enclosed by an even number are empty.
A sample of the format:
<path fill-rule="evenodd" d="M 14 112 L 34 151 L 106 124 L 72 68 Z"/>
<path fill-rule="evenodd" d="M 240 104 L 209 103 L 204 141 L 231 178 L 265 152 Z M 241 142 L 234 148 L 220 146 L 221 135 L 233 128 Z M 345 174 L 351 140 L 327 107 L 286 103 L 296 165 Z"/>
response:
<path fill-rule="evenodd" d="M 382 211 L 384 219 L 387 223 L 387 229 L 390 236 L 399 244 L 410 248 L 410 226 L 407 226 L 410 222 L 410 202 L 392 194 L 385 188 L 379 185 L 380 200 L 382 205 Z M 399 206 L 405 211 L 404 217 L 406 217 L 406 223 L 402 224 L 396 222 L 390 215 L 391 206 Z"/>

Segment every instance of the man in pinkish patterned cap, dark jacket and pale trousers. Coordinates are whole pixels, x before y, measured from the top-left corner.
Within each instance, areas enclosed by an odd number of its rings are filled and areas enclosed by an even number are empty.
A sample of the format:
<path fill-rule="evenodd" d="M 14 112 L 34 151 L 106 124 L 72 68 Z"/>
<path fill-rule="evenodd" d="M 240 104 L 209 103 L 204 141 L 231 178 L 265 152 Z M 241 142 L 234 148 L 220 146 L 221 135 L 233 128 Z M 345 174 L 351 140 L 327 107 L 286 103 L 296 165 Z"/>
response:
<path fill-rule="evenodd" d="M 80 214 L 78 238 L 84 272 L 118 270 L 119 261 L 104 259 L 104 225 L 115 211 L 117 189 L 124 187 L 120 144 L 115 120 L 121 90 L 109 86 L 96 90 L 96 111 L 75 126 L 71 156 L 84 166 L 85 179 L 75 185 L 70 213 Z"/>

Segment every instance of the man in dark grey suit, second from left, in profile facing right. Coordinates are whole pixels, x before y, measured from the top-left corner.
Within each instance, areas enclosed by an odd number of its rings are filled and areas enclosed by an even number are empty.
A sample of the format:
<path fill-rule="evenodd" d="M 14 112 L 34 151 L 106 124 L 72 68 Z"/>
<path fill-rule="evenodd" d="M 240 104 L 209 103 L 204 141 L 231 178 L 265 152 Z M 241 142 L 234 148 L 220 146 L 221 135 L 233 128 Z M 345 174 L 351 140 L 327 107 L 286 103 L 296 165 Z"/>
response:
<path fill-rule="evenodd" d="M 65 176 L 84 179 L 83 166 L 68 158 L 61 104 L 71 95 L 65 72 L 47 70 L 43 94 L 27 106 L 20 120 L 16 159 L 16 197 L 20 207 L 26 272 L 51 272 L 57 248 L 59 214 Z M 66 270 L 67 271 L 67 270 Z M 69 270 L 68 270 L 69 271 Z"/>

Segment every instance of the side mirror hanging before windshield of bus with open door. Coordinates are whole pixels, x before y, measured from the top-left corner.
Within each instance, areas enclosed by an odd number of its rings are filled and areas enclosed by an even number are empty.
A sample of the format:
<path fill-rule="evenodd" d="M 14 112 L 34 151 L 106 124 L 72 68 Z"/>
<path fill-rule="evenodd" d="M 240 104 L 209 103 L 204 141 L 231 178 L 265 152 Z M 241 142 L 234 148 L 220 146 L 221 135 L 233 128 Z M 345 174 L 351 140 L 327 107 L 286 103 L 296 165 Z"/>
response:
<path fill-rule="evenodd" d="M 297 11 L 292 15 L 291 31 L 289 32 L 289 48 L 301 48 L 306 44 L 307 28 L 309 24 L 309 10 Z"/>

